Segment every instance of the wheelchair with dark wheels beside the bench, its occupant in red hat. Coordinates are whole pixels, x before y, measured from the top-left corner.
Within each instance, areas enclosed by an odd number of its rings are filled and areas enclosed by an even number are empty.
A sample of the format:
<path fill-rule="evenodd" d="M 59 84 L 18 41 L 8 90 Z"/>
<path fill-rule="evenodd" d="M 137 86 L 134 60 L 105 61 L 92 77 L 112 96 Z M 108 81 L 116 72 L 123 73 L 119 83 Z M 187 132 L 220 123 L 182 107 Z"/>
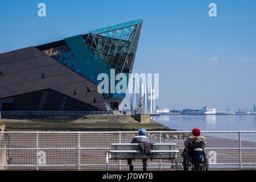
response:
<path fill-rule="evenodd" d="M 182 155 L 184 171 L 208 171 L 208 155 L 203 142 L 190 142 Z"/>

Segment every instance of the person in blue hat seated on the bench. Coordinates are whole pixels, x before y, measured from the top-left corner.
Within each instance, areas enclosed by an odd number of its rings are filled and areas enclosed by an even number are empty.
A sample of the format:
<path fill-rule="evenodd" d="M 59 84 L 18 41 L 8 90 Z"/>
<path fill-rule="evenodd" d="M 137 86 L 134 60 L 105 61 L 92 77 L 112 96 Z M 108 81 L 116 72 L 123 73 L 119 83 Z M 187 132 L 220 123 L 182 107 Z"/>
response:
<path fill-rule="evenodd" d="M 149 142 L 148 138 L 146 137 L 147 130 L 146 129 L 139 129 L 138 136 L 134 137 L 131 140 L 131 143 L 142 143 L 142 142 Z M 127 164 L 129 165 L 130 171 L 133 171 L 133 165 L 131 164 L 132 160 L 127 159 Z M 147 170 L 147 159 L 142 159 L 143 163 L 143 171 Z"/>

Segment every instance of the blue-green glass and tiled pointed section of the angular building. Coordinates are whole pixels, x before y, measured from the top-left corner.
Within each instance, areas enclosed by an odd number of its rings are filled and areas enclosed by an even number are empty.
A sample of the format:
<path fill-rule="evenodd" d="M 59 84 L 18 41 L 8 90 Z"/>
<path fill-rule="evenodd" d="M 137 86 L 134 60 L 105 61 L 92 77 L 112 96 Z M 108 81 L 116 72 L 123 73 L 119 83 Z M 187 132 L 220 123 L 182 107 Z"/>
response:
<path fill-rule="evenodd" d="M 100 73 L 106 73 L 110 79 L 110 69 L 115 69 L 115 75 L 126 74 L 128 84 L 127 73 L 133 70 L 141 26 L 142 19 L 137 19 L 98 28 L 89 31 L 86 35 L 65 38 L 67 45 L 46 49 L 43 52 L 95 84 L 101 82 L 97 80 Z M 109 93 L 105 93 L 104 97 L 125 97 L 126 95 Z"/>

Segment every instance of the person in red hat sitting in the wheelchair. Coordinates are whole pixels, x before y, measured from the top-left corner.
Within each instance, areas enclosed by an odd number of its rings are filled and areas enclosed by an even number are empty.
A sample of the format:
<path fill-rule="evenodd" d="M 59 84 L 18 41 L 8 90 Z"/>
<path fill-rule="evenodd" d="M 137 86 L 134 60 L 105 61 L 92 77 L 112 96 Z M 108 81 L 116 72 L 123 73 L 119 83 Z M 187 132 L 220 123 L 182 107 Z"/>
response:
<path fill-rule="evenodd" d="M 192 130 L 192 136 L 188 137 L 184 142 L 184 151 L 188 154 L 188 162 L 193 164 L 195 170 L 200 169 L 200 164 L 204 162 L 204 146 L 206 140 L 204 136 L 200 135 L 201 131 L 199 129 Z"/>

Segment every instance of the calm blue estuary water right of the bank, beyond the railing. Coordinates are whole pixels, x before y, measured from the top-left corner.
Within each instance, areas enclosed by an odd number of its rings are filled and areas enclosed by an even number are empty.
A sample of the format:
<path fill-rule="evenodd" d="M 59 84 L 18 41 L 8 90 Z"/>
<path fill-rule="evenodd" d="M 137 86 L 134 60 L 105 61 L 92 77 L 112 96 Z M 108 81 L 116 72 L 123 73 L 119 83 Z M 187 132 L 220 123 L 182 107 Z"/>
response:
<path fill-rule="evenodd" d="M 171 129 L 191 131 L 256 131 L 256 115 L 160 115 L 150 117 Z"/>

